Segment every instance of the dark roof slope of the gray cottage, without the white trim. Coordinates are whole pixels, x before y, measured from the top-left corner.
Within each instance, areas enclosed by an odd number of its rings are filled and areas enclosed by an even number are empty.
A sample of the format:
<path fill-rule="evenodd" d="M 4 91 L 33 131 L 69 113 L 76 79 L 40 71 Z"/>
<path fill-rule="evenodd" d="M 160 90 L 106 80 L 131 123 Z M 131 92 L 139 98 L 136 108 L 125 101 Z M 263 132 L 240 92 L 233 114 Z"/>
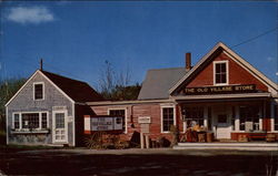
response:
<path fill-rule="evenodd" d="M 41 72 L 75 102 L 85 103 L 103 100 L 102 96 L 86 82 L 72 80 L 47 71 Z"/>

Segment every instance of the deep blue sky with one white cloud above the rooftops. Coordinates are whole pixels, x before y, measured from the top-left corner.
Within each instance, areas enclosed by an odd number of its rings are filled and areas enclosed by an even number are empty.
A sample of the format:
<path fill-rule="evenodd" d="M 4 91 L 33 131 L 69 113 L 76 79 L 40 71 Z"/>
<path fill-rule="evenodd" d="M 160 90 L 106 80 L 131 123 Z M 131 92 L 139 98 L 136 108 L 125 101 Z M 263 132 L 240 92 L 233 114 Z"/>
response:
<path fill-rule="evenodd" d="M 109 61 L 141 83 L 150 69 L 196 64 L 219 41 L 278 82 L 278 2 L 0 2 L 1 77 L 43 69 L 99 89 Z"/>

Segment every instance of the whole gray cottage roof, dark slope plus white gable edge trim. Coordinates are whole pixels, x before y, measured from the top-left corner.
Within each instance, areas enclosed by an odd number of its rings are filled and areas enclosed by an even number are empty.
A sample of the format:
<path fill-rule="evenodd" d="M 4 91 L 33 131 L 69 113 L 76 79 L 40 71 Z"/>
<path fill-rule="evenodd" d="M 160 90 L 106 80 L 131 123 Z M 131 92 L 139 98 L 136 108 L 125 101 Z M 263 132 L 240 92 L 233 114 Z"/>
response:
<path fill-rule="evenodd" d="M 10 104 L 10 102 L 19 94 L 19 92 L 21 92 L 21 90 L 28 84 L 28 82 L 30 82 L 30 80 L 32 80 L 32 77 L 37 74 L 43 75 L 72 103 L 86 103 L 103 100 L 100 94 L 98 94 L 90 85 L 85 82 L 64 77 L 47 71 L 37 70 L 20 87 L 20 90 L 10 99 L 6 106 Z"/>

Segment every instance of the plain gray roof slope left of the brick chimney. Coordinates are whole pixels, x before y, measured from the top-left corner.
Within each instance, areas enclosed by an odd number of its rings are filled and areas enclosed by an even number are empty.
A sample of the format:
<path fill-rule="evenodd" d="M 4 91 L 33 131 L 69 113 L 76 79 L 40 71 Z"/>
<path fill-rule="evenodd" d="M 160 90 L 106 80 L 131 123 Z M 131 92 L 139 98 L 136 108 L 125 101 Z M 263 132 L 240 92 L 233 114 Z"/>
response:
<path fill-rule="evenodd" d="M 142 83 L 138 100 L 168 99 L 169 89 L 185 74 L 185 68 L 149 70 Z"/>

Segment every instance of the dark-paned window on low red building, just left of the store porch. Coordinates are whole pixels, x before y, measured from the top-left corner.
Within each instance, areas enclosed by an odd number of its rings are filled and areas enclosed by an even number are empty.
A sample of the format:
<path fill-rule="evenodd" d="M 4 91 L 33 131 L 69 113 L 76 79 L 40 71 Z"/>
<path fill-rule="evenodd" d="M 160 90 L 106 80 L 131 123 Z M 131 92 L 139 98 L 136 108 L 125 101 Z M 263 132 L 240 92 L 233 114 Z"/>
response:
<path fill-rule="evenodd" d="M 173 123 L 173 107 L 162 107 L 162 132 L 170 132 Z"/>

